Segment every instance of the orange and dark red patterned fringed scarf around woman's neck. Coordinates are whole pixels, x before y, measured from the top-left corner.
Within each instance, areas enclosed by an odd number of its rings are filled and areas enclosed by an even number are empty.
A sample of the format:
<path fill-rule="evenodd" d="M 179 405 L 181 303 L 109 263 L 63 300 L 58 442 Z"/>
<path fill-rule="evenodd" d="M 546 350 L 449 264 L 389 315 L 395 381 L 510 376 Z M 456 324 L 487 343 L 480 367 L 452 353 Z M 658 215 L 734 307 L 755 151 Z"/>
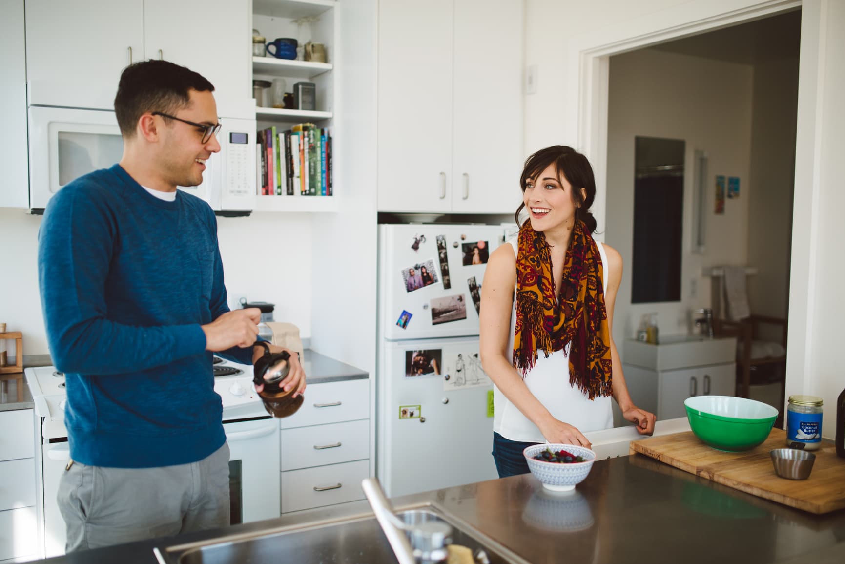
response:
<path fill-rule="evenodd" d="M 602 271 L 596 242 L 576 220 L 556 293 L 546 237 L 534 231 L 531 220 L 522 224 L 516 256 L 514 366 L 523 377 L 537 364 L 538 350 L 548 358 L 568 346 L 570 384 L 590 399 L 613 392 Z"/>

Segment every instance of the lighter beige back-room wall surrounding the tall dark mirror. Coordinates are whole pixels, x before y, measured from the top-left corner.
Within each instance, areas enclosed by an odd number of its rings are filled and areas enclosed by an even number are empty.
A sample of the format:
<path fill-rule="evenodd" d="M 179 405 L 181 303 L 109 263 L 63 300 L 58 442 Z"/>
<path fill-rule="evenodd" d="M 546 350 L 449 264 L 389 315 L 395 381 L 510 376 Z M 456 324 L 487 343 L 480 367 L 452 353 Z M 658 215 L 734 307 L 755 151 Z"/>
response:
<path fill-rule="evenodd" d="M 610 59 L 608 100 L 607 232 L 604 240 L 619 250 L 625 272 L 616 300 L 613 337 L 634 337 L 640 317 L 657 312 L 662 335 L 685 334 L 690 309 L 709 307 L 710 278 L 702 266 L 746 264 L 748 255 L 751 141 L 750 65 L 643 49 Z M 634 227 L 634 138 L 637 135 L 686 142 L 684 174 L 684 242 L 681 301 L 631 304 L 631 257 Z M 725 213 L 713 213 L 714 188 L 705 187 L 703 221 L 706 252 L 690 252 L 692 159 L 695 150 L 708 156 L 708 176 L 740 178 L 740 198 L 725 201 Z M 602 229 L 602 226 L 599 227 Z"/>

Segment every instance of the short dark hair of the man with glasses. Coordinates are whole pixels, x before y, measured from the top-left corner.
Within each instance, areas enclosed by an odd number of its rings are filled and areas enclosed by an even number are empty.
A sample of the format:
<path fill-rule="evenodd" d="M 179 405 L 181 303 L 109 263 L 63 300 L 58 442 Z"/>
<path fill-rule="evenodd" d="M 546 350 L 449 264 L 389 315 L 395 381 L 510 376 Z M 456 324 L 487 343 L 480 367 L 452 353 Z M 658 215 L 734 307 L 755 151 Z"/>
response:
<path fill-rule="evenodd" d="M 190 90 L 213 92 L 202 74 L 169 61 L 143 61 L 123 69 L 114 112 L 124 137 L 132 137 L 138 120 L 146 112 L 174 113 L 188 106 Z"/>

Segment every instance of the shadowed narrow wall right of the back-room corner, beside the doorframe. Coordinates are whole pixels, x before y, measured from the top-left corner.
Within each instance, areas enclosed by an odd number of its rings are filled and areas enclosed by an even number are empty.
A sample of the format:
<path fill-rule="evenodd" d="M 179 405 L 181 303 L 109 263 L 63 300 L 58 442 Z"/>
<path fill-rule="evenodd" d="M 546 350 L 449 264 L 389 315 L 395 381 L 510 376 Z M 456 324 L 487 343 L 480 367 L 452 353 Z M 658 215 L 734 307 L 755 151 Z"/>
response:
<path fill-rule="evenodd" d="M 797 107 L 798 57 L 755 63 L 747 195 L 754 211 L 748 257 L 758 273 L 748 279 L 748 296 L 751 311 L 760 315 L 788 312 Z"/>

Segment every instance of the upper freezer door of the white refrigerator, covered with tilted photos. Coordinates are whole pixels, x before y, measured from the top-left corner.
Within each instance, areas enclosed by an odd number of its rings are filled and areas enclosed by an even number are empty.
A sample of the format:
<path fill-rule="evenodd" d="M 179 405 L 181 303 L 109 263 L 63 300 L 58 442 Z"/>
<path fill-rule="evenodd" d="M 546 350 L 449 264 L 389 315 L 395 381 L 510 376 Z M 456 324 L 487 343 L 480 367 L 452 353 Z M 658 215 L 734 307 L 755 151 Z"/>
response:
<path fill-rule="evenodd" d="M 487 225 L 380 226 L 382 337 L 477 335 L 484 269 L 506 232 Z"/>

